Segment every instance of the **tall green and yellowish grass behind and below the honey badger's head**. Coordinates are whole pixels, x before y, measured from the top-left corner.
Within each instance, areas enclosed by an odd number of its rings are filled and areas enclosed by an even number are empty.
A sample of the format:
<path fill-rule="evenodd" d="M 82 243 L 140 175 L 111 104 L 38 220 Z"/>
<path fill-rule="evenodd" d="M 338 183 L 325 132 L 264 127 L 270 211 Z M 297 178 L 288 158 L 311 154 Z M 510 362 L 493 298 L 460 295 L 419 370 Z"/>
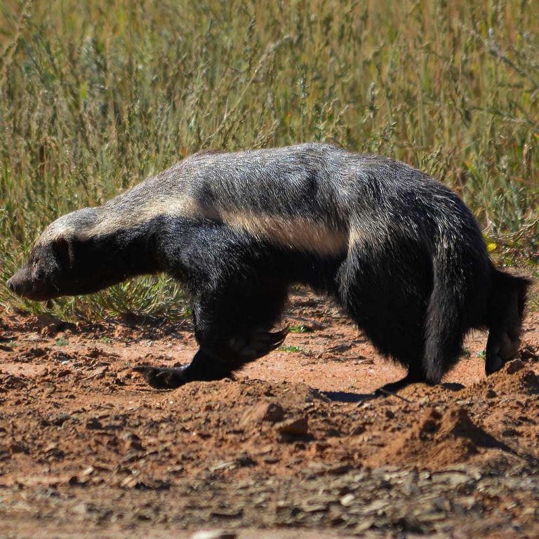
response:
<path fill-rule="evenodd" d="M 4 0 L 0 277 L 55 217 L 202 148 L 335 142 L 407 161 L 470 205 L 501 262 L 539 252 L 537 2 Z M 0 304 L 182 316 L 144 278 Z"/>

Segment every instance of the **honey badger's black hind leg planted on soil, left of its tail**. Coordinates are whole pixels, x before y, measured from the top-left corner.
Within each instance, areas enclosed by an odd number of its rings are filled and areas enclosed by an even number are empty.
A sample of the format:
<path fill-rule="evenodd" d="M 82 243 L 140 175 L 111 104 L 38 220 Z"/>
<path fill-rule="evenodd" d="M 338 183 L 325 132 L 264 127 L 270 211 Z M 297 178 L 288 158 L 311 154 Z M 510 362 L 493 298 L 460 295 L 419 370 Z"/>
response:
<path fill-rule="evenodd" d="M 382 240 L 380 234 L 378 241 Z M 406 264 L 409 258 L 412 262 Z M 408 384 L 427 382 L 423 325 L 432 272 L 425 252 L 404 241 L 387 247 L 365 242 L 352 248 L 338 280 L 342 307 L 378 352 L 408 370 L 404 378 L 375 393 L 394 393 Z"/>

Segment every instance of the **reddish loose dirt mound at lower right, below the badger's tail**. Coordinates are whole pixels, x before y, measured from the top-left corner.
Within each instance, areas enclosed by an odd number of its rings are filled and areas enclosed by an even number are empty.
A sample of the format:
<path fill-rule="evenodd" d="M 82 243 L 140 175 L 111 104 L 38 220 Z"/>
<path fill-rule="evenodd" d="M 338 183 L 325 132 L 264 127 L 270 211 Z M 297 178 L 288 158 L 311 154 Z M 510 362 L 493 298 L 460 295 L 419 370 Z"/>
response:
<path fill-rule="evenodd" d="M 367 465 L 417 465 L 437 469 L 463 463 L 480 447 L 495 440 L 470 419 L 463 406 L 453 405 L 441 412 L 428 408 L 418 425 L 397 437 L 385 449 L 367 461 Z"/>

